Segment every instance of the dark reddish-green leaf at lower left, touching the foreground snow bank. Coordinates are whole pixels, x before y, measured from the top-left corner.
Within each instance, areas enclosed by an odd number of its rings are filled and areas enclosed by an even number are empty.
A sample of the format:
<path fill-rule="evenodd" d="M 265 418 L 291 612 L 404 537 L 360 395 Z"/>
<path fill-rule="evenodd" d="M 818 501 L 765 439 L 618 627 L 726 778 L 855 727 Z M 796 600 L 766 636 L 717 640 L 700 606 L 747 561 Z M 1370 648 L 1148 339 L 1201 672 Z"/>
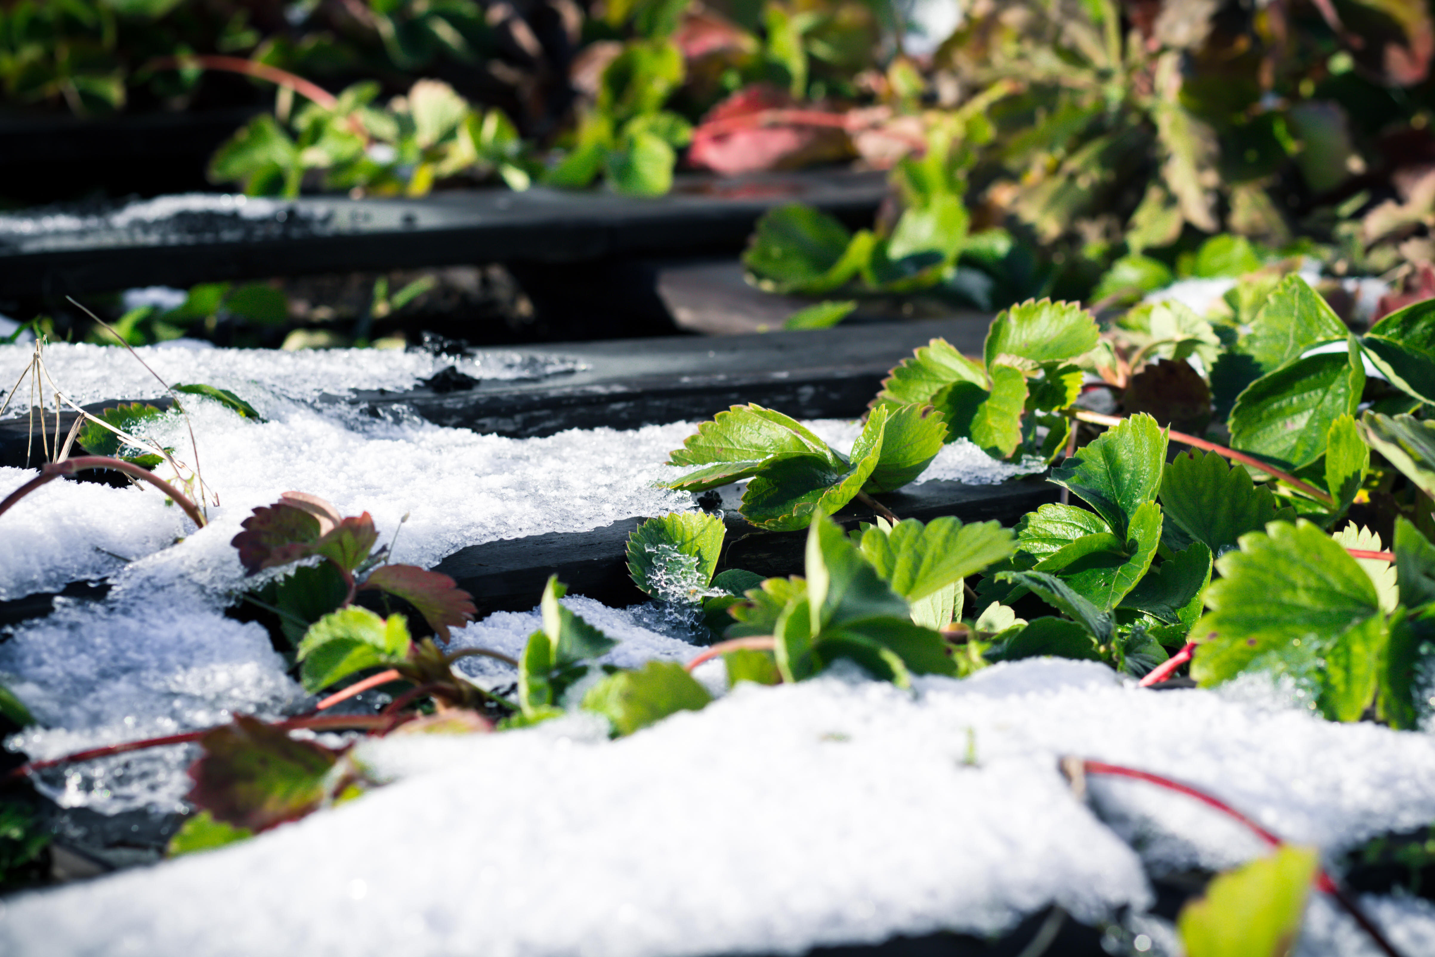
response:
<path fill-rule="evenodd" d="M 264 831 L 319 808 L 339 753 L 238 715 L 199 739 L 188 799 L 215 821 Z"/>

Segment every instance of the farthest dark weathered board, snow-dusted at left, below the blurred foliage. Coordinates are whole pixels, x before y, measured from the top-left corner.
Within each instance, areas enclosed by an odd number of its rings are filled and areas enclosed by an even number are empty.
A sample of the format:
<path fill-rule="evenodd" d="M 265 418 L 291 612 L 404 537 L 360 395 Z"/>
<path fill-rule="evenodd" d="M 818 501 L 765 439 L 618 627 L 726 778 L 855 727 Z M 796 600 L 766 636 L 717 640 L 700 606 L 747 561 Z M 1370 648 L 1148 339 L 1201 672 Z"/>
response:
<path fill-rule="evenodd" d="M 475 189 L 419 199 L 303 197 L 273 215 L 185 212 L 126 228 L 56 230 L 43 212 L 0 230 L 0 296 L 474 263 L 575 263 L 736 250 L 768 209 L 805 202 L 868 220 L 883 174 L 680 176 L 672 194 Z M 52 221 L 53 222 L 53 221 Z M 23 228 L 22 228 L 23 227 Z"/>

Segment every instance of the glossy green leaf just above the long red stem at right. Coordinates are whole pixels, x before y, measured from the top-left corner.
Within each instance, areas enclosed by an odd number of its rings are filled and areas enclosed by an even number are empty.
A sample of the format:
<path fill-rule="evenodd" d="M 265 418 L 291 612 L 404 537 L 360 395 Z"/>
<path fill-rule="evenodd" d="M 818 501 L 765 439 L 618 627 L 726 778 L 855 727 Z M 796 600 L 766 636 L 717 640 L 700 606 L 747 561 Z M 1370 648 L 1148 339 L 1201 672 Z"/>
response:
<path fill-rule="evenodd" d="M 1355 415 L 1365 366 L 1352 340 L 1347 353 L 1306 356 L 1261 376 L 1231 409 L 1231 448 L 1286 469 L 1302 469 L 1326 453 L 1330 426 Z"/>

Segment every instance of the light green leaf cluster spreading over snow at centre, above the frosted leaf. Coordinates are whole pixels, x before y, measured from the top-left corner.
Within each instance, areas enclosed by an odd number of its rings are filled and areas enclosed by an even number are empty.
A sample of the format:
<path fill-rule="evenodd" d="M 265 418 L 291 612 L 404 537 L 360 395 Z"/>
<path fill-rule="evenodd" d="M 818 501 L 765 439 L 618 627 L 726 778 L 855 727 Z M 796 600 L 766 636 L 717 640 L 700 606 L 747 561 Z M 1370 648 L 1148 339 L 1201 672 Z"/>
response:
<path fill-rule="evenodd" d="M 772 531 L 805 528 L 860 492 L 890 492 L 931 463 L 946 438 L 943 416 L 930 406 L 872 409 L 848 455 L 802 423 L 758 405 L 732 406 L 669 456 L 670 465 L 699 466 L 669 488 L 702 492 L 751 478 L 743 517 Z"/>

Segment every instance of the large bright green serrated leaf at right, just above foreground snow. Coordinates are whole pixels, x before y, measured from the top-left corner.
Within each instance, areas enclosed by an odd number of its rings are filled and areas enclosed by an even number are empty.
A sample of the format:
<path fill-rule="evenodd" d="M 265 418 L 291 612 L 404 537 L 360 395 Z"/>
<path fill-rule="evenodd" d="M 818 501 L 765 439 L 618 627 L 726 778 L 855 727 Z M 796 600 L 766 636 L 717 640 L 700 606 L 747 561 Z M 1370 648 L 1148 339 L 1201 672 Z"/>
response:
<path fill-rule="evenodd" d="M 1271 522 L 1240 544 L 1240 551 L 1215 561 L 1221 578 L 1205 590 L 1210 611 L 1194 628 L 1201 644 L 1191 676 L 1220 684 L 1257 657 L 1280 670 L 1287 667 L 1286 653 L 1319 654 L 1326 666 L 1317 674 L 1317 703 L 1327 716 L 1358 719 L 1375 690 L 1373 663 L 1385 631 L 1370 575 L 1304 519 Z M 1363 656 L 1372 649 L 1368 661 Z M 1366 700 L 1358 700 L 1366 692 Z"/>

